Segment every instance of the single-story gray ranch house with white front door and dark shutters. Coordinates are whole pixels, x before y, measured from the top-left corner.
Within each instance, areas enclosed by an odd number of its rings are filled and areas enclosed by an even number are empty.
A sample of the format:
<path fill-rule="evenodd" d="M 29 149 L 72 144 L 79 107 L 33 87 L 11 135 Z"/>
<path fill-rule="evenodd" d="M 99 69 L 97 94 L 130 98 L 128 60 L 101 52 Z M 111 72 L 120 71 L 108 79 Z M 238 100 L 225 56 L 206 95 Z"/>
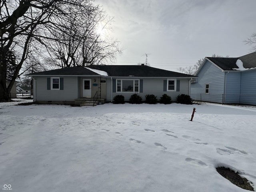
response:
<path fill-rule="evenodd" d="M 136 65 L 77 66 L 28 74 L 33 79 L 34 101 L 38 103 L 75 104 L 85 100 L 112 102 L 116 95 L 129 101 L 132 94 L 154 94 L 158 99 L 168 94 L 176 101 L 179 94 L 189 94 L 196 76 Z M 89 101 L 88 101 L 89 102 Z"/>

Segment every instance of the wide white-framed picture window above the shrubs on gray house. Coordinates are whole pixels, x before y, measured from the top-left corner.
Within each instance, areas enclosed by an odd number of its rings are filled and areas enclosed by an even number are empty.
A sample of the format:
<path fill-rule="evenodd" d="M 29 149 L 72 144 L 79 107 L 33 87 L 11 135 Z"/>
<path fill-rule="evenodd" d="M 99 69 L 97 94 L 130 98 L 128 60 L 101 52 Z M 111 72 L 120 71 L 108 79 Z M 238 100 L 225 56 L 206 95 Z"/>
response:
<path fill-rule="evenodd" d="M 126 80 L 117 79 L 116 80 L 116 92 L 139 92 L 139 80 Z"/>

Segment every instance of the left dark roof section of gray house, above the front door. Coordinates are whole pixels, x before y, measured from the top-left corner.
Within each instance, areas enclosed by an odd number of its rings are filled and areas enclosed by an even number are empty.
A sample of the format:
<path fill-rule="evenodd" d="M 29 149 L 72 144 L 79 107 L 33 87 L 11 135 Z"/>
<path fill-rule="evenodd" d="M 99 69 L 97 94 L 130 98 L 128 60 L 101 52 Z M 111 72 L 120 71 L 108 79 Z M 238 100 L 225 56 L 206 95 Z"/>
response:
<path fill-rule="evenodd" d="M 36 76 L 36 75 L 94 75 L 98 76 L 99 74 L 86 69 L 82 66 L 77 67 L 69 67 L 69 68 L 62 68 L 62 69 L 55 69 L 50 71 L 43 71 L 43 72 L 37 72 L 37 73 L 30 73 L 27 74 L 28 76 Z"/>

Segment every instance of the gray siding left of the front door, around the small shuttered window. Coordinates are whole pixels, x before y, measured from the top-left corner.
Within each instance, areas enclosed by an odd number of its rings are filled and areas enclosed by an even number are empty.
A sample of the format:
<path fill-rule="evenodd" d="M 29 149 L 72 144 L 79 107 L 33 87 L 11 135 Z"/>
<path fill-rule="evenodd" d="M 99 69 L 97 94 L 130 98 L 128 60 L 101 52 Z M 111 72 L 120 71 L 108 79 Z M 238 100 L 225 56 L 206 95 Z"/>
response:
<path fill-rule="evenodd" d="M 64 90 L 47 90 L 47 78 L 36 79 L 36 101 L 74 101 L 77 98 L 77 77 L 64 77 Z"/>

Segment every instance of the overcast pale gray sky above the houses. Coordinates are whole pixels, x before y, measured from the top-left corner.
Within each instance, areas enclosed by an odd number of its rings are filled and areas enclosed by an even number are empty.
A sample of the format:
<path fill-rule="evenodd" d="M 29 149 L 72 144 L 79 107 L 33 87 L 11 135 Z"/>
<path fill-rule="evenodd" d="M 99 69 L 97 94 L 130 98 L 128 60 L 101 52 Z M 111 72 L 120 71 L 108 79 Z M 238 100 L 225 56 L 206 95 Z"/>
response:
<path fill-rule="evenodd" d="M 256 0 L 95 0 L 114 16 L 124 48 L 116 64 L 148 63 L 178 71 L 200 58 L 252 52 L 243 41 L 256 32 Z"/>

